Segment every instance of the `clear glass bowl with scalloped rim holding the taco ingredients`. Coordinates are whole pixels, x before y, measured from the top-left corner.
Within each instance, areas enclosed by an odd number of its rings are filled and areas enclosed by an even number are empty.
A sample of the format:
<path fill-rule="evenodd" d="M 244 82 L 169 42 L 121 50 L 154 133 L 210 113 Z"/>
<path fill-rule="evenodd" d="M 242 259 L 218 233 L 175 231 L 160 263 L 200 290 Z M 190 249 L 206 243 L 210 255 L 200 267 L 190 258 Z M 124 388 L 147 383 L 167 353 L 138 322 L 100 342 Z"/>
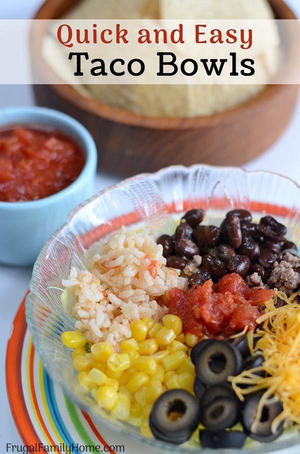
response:
<path fill-rule="evenodd" d="M 100 237 L 121 225 L 140 221 L 158 229 L 169 213 L 179 216 L 196 207 L 206 210 L 206 222 L 215 223 L 233 208 L 249 209 L 254 217 L 273 215 L 287 226 L 287 237 L 300 244 L 300 187 L 293 181 L 268 172 L 246 172 L 239 168 L 172 166 L 124 180 L 76 208 L 40 252 L 26 298 L 26 320 L 34 345 L 49 375 L 61 385 L 63 392 L 100 424 L 153 448 L 181 453 L 201 448 L 191 443 L 173 445 L 142 437 L 138 427 L 111 417 L 79 385 L 71 351 L 60 339 L 62 331 L 73 329 L 74 319 L 63 311 L 59 295 L 63 290 L 61 279 L 68 275 L 70 266 L 83 267 L 86 248 Z M 299 434 L 286 433 L 270 443 L 253 442 L 243 449 L 230 449 L 230 454 L 254 454 L 262 449 L 269 452 L 297 443 L 300 443 Z M 208 454 L 223 450 L 201 451 Z"/>

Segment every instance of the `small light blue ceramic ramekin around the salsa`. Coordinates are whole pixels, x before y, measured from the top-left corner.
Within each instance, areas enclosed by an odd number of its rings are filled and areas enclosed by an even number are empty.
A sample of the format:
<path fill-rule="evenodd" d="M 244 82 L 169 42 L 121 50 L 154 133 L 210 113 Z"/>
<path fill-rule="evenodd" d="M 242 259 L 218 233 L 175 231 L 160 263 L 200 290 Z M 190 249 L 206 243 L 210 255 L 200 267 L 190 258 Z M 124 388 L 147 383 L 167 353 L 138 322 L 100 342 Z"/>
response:
<path fill-rule="evenodd" d="M 32 265 L 70 211 L 92 195 L 97 152 L 89 132 L 61 112 L 42 107 L 1 109 L 0 129 L 13 124 L 51 126 L 74 139 L 86 157 L 78 178 L 62 191 L 32 202 L 0 202 L 0 263 Z"/>

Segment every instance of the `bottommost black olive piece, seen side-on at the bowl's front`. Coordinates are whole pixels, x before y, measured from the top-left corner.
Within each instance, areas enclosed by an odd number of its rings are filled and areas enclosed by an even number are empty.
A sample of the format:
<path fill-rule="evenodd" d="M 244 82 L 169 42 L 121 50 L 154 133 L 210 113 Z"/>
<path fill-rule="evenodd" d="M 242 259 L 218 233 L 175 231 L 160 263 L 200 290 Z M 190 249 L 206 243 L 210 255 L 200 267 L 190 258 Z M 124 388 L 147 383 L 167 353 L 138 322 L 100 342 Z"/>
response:
<path fill-rule="evenodd" d="M 218 448 L 242 448 L 245 444 L 247 435 L 240 430 L 221 430 L 210 432 L 209 430 L 199 430 L 199 439 L 202 447 Z"/>

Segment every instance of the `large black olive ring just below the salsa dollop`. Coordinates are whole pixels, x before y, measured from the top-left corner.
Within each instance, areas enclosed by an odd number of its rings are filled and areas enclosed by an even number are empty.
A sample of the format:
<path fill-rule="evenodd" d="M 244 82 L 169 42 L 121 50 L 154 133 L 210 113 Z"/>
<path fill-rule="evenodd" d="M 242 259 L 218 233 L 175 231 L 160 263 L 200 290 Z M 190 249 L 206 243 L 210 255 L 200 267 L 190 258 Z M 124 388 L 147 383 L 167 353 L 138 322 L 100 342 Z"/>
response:
<path fill-rule="evenodd" d="M 238 374 L 241 367 L 240 352 L 234 345 L 223 340 L 211 339 L 200 350 L 195 361 L 196 375 L 206 385 L 225 382 L 229 375 Z"/>

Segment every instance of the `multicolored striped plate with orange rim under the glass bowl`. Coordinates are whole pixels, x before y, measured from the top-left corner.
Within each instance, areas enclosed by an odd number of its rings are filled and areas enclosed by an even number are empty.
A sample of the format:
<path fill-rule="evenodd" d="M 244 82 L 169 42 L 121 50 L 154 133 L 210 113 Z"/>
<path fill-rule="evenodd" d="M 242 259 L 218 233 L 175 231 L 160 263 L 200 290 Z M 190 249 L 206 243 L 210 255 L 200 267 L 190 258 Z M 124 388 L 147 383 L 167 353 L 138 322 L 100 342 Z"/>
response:
<path fill-rule="evenodd" d="M 6 387 L 11 412 L 26 445 L 42 443 L 57 446 L 55 452 L 85 452 L 83 446 L 94 446 L 91 452 L 140 452 L 141 445 L 107 427 L 99 426 L 80 410 L 53 383 L 32 343 L 25 321 L 22 301 L 13 322 L 6 352 Z M 78 443 L 78 446 L 77 446 Z M 124 446 L 124 447 L 123 447 Z M 96 450 L 95 450 L 96 449 Z M 143 445 L 143 454 L 157 452 Z M 87 451 L 88 452 L 88 451 Z"/>

